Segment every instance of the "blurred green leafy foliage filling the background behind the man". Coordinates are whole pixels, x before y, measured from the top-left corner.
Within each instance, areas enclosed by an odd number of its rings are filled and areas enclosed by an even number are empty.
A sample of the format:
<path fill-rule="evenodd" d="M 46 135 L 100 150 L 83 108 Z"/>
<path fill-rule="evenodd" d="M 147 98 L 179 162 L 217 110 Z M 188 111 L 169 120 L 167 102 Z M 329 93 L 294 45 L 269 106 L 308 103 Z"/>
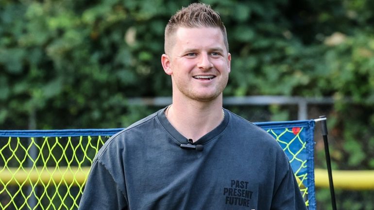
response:
<path fill-rule="evenodd" d="M 155 111 L 126 100 L 171 95 L 160 65 L 164 27 L 191 2 L 1 1 L 1 129 L 28 129 L 34 116 L 34 129 L 118 128 Z M 204 2 L 228 32 L 225 96 L 332 96 L 334 167 L 374 169 L 373 1 Z M 271 119 L 288 120 L 289 110 L 271 106 Z M 326 196 L 319 197 L 323 206 Z M 370 199 L 344 200 L 344 209 L 374 209 Z"/>

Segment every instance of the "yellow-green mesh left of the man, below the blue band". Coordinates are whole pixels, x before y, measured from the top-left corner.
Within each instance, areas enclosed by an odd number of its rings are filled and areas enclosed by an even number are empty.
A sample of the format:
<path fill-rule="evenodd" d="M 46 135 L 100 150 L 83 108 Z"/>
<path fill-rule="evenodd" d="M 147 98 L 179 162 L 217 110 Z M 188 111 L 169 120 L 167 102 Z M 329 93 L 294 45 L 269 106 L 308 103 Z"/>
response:
<path fill-rule="evenodd" d="M 92 160 L 108 138 L 1 138 L 1 209 L 77 209 Z"/>

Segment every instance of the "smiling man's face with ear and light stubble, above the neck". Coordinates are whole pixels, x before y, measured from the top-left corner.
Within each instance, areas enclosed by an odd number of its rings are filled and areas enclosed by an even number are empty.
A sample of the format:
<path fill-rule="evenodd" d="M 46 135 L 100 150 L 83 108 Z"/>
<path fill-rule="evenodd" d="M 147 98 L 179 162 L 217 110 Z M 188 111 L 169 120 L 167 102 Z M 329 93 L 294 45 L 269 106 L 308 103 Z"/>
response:
<path fill-rule="evenodd" d="M 211 101 L 221 96 L 231 62 L 221 30 L 180 27 L 172 38 L 170 53 L 161 59 L 171 75 L 173 97 Z"/>

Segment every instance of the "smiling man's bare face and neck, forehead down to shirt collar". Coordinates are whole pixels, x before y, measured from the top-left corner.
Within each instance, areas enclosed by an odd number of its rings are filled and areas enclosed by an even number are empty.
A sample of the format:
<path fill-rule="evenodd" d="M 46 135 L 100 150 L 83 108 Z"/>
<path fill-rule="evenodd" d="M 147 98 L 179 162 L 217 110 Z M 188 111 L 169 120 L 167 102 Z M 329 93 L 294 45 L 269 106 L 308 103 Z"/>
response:
<path fill-rule="evenodd" d="M 172 81 L 168 120 L 195 141 L 221 123 L 222 91 L 228 81 L 231 55 L 218 27 L 182 26 L 166 34 L 167 54 L 162 55 L 161 63 Z M 169 39 L 173 41 L 169 43 Z"/>

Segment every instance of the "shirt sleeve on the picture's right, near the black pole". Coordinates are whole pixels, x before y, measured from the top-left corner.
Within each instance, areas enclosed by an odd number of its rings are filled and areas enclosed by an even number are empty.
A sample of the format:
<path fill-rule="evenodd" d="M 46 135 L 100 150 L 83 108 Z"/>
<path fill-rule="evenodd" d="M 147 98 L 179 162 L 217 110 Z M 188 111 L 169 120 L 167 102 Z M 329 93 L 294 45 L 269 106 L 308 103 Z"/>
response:
<path fill-rule="evenodd" d="M 307 210 L 291 165 L 272 198 L 271 210 Z"/>

